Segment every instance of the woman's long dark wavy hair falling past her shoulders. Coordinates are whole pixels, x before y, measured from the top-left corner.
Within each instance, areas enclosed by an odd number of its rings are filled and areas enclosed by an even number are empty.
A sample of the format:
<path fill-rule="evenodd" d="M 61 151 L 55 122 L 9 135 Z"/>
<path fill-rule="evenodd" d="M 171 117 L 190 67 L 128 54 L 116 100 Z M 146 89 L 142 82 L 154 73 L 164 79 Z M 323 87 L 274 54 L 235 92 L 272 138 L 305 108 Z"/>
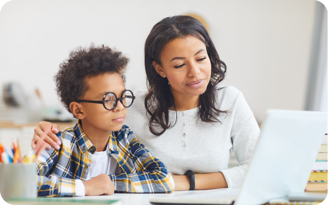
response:
<path fill-rule="evenodd" d="M 147 115 L 150 115 L 149 129 L 156 135 L 162 135 L 168 128 L 175 125 L 169 123 L 168 108 L 173 106 L 174 98 L 171 93 L 167 78 L 162 78 L 155 70 L 153 61 L 161 64 L 161 52 L 166 44 L 176 38 L 193 35 L 206 45 L 206 51 L 211 61 L 211 79 L 206 91 L 199 97 L 198 116 L 205 122 L 221 122 L 217 118 L 220 113 L 217 105 L 216 85 L 221 82 L 226 74 L 226 65 L 220 60 L 210 35 L 206 28 L 194 17 L 172 16 L 155 24 L 145 42 L 145 68 L 147 75 L 148 93 L 145 97 Z M 176 111 L 175 111 L 176 112 Z"/>

